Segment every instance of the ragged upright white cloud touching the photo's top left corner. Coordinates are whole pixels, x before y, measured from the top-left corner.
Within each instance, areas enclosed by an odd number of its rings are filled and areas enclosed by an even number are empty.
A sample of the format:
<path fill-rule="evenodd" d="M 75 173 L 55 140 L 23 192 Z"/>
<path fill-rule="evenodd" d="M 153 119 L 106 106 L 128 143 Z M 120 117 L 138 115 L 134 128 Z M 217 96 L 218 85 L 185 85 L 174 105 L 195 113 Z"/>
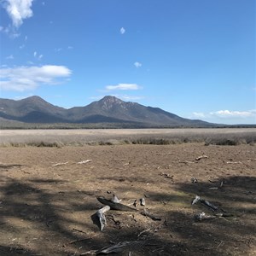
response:
<path fill-rule="evenodd" d="M 23 20 L 32 17 L 33 0 L 3 0 L 3 8 L 6 9 L 13 25 L 18 28 L 22 25 Z"/>

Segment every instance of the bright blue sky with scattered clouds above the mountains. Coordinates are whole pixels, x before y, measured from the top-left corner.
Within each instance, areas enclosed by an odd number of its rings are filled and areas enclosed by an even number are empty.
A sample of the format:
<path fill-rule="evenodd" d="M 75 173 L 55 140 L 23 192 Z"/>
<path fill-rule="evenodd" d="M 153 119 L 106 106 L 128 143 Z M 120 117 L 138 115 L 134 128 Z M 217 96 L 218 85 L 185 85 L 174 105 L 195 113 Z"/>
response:
<path fill-rule="evenodd" d="M 254 0 L 0 0 L 0 97 L 103 96 L 256 124 Z"/>

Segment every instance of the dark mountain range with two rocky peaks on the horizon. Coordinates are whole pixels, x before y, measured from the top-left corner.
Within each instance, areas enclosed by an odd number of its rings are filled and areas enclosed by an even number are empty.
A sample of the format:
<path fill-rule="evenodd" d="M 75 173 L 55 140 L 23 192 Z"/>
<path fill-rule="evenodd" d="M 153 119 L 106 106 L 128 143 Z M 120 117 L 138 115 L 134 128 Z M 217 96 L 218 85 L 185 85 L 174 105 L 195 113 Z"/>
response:
<path fill-rule="evenodd" d="M 102 124 L 111 127 L 214 127 L 201 120 L 184 119 L 160 108 L 145 107 L 136 102 L 124 102 L 114 96 L 85 107 L 60 108 L 31 96 L 20 101 L 0 99 L 0 118 L 31 124 Z M 105 125 L 104 125 L 105 124 Z"/>

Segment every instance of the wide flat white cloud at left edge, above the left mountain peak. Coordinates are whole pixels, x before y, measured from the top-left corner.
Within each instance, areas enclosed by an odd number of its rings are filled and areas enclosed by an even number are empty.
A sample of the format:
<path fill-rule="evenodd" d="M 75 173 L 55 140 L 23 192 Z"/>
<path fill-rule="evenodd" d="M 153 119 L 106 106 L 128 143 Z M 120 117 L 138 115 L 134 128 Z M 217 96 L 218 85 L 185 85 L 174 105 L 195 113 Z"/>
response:
<path fill-rule="evenodd" d="M 72 71 L 64 66 L 0 68 L 0 90 L 34 90 L 41 84 L 57 84 Z"/>

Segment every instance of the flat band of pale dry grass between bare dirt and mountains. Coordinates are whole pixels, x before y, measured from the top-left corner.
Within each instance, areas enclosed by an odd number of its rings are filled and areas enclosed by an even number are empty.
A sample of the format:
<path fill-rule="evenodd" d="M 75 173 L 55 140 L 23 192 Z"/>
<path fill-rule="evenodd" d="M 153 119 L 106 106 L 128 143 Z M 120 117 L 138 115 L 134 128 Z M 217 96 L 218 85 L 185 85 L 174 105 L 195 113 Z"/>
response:
<path fill-rule="evenodd" d="M 1 146 L 62 147 L 86 144 L 254 144 L 256 128 L 1 130 Z"/>

